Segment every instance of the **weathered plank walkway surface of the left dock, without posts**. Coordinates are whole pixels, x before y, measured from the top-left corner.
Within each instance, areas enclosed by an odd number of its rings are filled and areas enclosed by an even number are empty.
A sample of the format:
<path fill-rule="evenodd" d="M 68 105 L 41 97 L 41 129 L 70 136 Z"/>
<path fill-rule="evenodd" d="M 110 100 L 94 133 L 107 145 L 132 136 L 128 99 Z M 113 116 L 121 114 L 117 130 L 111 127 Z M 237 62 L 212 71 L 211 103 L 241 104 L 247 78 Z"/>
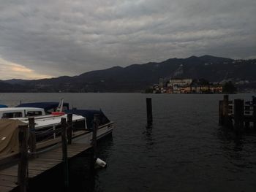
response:
<path fill-rule="evenodd" d="M 84 150 L 88 150 L 92 145 L 72 143 L 67 145 L 67 157 L 72 158 Z M 29 160 L 29 175 L 28 178 L 37 177 L 39 174 L 52 169 L 54 166 L 58 166 L 62 161 L 62 149 L 61 146 L 56 149 L 50 150 L 46 153 L 42 153 L 38 158 L 32 158 Z M 11 166 L 7 169 L 0 171 L 0 191 L 12 191 L 18 188 L 18 164 Z"/>

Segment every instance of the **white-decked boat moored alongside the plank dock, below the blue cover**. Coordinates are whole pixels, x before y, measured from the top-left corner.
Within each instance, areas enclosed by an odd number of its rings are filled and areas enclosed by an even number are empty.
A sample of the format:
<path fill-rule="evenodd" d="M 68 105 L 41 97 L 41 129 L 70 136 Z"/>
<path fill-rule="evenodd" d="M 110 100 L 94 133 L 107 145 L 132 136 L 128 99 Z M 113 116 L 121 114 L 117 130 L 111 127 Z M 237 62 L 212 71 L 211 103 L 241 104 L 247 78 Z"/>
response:
<path fill-rule="evenodd" d="M 67 114 L 44 115 L 34 117 L 35 135 L 37 149 L 48 147 L 61 141 L 61 118 L 67 120 Z M 29 124 L 29 118 L 13 118 L 23 123 Z M 72 115 L 72 141 L 76 143 L 90 144 L 92 139 L 92 128 L 87 125 L 85 117 L 82 115 Z M 59 130 L 59 131 L 58 131 Z M 108 134 L 112 134 L 113 122 L 100 125 L 97 129 L 97 139 L 101 139 Z"/>

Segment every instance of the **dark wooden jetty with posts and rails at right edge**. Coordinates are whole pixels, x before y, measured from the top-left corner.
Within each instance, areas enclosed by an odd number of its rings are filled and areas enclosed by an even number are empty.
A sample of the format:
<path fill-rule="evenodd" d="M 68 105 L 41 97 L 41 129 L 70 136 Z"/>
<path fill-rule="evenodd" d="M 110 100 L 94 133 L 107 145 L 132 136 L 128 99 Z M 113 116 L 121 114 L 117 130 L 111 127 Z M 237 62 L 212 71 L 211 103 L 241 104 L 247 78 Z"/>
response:
<path fill-rule="evenodd" d="M 256 98 L 252 97 L 252 101 L 230 101 L 228 95 L 223 96 L 219 101 L 219 125 L 235 131 L 256 130 Z"/>

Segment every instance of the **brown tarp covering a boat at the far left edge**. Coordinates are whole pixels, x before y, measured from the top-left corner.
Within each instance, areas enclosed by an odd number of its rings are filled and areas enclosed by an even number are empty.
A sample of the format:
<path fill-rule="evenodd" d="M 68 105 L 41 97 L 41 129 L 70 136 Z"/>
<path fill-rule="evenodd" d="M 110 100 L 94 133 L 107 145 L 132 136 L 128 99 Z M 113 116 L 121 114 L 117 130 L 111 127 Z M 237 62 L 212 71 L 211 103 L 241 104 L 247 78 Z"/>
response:
<path fill-rule="evenodd" d="M 11 153 L 18 153 L 18 126 L 20 125 L 26 125 L 26 123 L 12 119 L 0 120 L 0 158 Z"/>

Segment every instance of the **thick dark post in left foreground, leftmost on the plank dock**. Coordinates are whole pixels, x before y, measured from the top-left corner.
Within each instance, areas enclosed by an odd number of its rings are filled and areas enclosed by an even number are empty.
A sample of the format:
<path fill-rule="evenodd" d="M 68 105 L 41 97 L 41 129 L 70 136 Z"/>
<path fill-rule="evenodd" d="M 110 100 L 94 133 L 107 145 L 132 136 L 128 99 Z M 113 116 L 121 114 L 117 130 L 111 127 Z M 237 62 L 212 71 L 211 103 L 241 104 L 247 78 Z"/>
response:
<path fill-rule="evenodd" d="M 29 167 L 28 155 L 28 139 L 29 128 L 27 125 L 18 126 L 19 129 L 19 150 L 20 161 L 18 163 L 18 185 L 20 185 L 20 192 L 26 192 L 27 174 Z"/>

